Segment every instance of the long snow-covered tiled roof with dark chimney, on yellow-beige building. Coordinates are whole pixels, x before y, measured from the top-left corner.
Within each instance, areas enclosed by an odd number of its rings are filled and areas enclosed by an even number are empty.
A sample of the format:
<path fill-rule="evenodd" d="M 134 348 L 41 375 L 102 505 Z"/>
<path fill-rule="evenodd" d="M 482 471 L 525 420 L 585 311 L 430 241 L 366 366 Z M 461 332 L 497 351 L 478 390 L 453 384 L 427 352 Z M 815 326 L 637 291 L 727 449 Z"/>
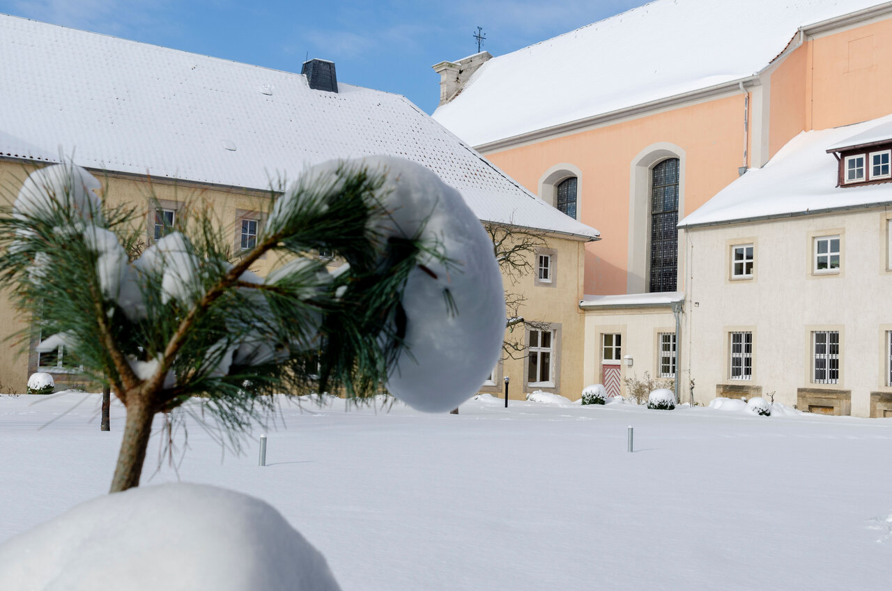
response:
<path fill-rule="evenodd" d="M 598 237 L 521 187 L 404 96 L 311 90 L 269 70 L 0 15 L 0 155 L 268 189 L 334 158 L 397 155 L 484 221 Z"/>

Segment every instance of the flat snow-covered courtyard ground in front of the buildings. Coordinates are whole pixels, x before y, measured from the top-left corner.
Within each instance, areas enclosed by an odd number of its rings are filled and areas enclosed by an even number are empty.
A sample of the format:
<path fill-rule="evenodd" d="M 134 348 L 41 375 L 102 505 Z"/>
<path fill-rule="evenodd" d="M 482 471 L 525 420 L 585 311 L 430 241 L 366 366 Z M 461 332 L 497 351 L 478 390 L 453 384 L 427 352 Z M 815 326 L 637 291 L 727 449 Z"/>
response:
<path fill-rule="evenodd" d="M 102 433 L 98 404 L 0 396 L 0 542 L 106 492 L 123 411 Z M 266 500 L 344 591 L 892 585 L 892 420 L 485 397 L 460 412 L 285 403 L 265 468 L 255 441 L 223 453 L 192 422 L 178 470 L 153 437 L 143 484 Z"/>

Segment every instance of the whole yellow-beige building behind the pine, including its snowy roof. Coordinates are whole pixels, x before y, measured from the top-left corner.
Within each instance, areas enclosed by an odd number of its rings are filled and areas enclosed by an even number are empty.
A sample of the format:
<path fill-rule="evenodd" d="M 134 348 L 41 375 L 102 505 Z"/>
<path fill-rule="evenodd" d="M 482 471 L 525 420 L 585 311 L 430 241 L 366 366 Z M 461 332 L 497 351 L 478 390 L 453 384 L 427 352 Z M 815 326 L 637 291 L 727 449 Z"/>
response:
<path fill-rule="evenodd" d="M 500 363 L 484 389 L 502 392 L 508 377 L 514 397 L 534 389 L 578 395 L 582 258 L 598 230 L 541 201 L 405 97 L 338 82 L 335 64 L 322 60 L 293 74 L 5 15 L 0 54 L 8 197 L 35 167 L 72 160 L 101 179 L 112 202 L 145 211 L 135 223 L 145 224 L 147 243 L 187 215 L 193 195 L 210 198 L 237 252 L 262 228 L 275 188 L 309 165 L 371 154 L 425 165 L 481 221 L 541 240 L 523 254 L 532 272 L 506 285 L 524 299 L 518 314 L 536 321 L 517 324 L 511 336 L 519 331 L 524 345 L 535 339 L 534 354 Z M 0 304 L 0 337 L 29 326 Z M 35 370 L 78 381 L 64 350 L 37 353 L 38 337 L 30 335 L 21 357 L 14 343 L 0 348 L 4 388 L 23 391 Z"/>

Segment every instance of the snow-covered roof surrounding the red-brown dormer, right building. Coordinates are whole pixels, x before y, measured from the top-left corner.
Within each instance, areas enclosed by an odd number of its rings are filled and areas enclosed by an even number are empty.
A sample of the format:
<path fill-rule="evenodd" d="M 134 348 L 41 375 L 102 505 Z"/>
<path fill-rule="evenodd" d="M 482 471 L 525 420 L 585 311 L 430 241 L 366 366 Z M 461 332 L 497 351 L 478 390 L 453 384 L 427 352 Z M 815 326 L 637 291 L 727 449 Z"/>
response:
<path fill-rule="evenodd" d="M 833 129 L 803 131 L 761 169 L 747 171 L 695 212 L 680 228 L 803 215 L 892 202 L 892 184 L 837 187 L 838 161 L 832 146 L 862 144 L 864 137 L 892 139 L 892 115 Z M 877 141 L 877 140 L 871 140 Z"/>

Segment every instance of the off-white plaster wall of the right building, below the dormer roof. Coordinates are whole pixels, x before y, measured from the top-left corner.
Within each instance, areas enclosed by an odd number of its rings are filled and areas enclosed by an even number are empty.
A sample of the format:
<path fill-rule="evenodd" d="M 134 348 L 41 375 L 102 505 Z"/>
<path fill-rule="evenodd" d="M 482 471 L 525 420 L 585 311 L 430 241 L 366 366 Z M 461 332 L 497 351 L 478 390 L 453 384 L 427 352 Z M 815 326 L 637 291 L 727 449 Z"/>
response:
<path fill-rule="evenodd" d="M 708 403 L 726 386 L 745 386 L 749 395 L 773 392 L 777 402 L 807 408 L 826 405 L 814 400 L 843 391 L 849 393 L 851 414 L 871 416 L 871 395 L 876 403 L 892 393 L 885 340 L 892 329 L 890 217 L 892 211 L 877 208 L 690 229 L 685 256 L 696 280 L 686 294 L 690 348 L 682 365 L 690 364 L 698 401 Z M 842 240 L 841 271 L 816 275 L 814 237 L 831 234 Z M 731 245 L 750 242 L 756 244 L 755 278 L 731 280 Z M 731 330 L 753 333 L 751 380 L 729 379 Z M 838 384 L 812 383 L 814 330 L 839 331 Z M 883 408 L 892 409 L 873 406 L 880 416 Z M 842 406 L 836 410 L 847 413 Z"/>

